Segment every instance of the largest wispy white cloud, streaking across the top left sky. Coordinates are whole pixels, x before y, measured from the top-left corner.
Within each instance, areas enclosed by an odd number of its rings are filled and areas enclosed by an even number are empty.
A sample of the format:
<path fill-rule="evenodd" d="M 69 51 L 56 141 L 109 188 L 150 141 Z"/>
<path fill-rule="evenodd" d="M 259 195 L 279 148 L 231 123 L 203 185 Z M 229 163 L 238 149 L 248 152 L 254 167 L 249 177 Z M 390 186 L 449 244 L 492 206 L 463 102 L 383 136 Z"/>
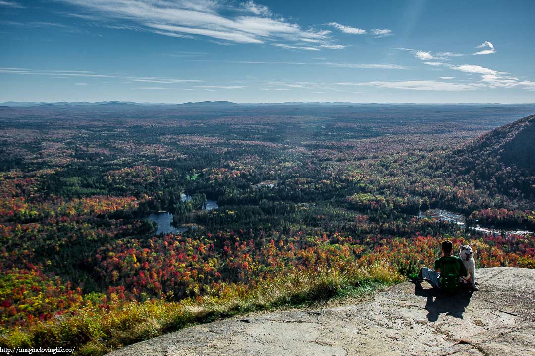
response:
<path fill-rule="evenodd" d="M 234 43 L 284 43 L 289 49 L 297 49 L 295 42 L 302 39 L 335 45 L 331 31 L 304 29 L 253 1 L 238 5 L 215 0 L 62 1 L 85 10 L 89 16 L 98 14 L 103 20 L 122 21 L 121 26 L 126 22 L 128 26 L 166 36 L 205 36 Z"/>

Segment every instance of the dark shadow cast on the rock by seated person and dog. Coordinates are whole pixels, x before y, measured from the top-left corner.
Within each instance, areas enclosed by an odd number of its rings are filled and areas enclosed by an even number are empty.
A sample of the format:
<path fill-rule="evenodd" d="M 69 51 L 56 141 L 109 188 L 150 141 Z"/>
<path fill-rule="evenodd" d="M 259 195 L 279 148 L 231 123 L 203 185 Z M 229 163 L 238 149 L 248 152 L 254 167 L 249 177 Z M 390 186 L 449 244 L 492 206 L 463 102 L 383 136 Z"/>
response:
<path fill-rule="evenodd" d="M 446 292 L 434 288 L 424 289 L 419 282 L 415 283 L 414 294 L 426 297 L 425 309 L 429 311 L 426 317 L 431 322 L 437 321 L 440 314 L 462 319 L 465 307 L 472 297 L 472 291 L 463 287 L 457 292 Z"/>

